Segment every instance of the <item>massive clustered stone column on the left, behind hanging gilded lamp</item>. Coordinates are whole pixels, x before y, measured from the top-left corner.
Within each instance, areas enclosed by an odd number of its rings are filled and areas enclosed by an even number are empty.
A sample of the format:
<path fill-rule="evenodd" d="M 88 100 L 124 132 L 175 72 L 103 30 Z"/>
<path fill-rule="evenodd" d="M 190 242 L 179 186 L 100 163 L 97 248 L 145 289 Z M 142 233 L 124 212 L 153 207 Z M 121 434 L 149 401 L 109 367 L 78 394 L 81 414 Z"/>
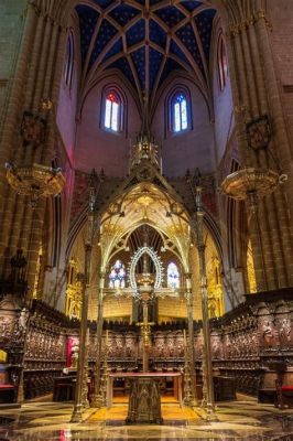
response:
<path fill-rule="evenodd" d="M 66 49 L 66 28 L 57 2 L 29 2 L 23 39 L 3 121 L 1 143 L 2 163 L 17 165 L 37 162 L 51 165 L 54 157 L 55 116 L 42 109 L 43 98 L 56 106 Z M 66 18 L 66 21 L 68 17 Z M 35 149 L 20 135 L 23 112 L 30 111 L 45 120 L 45 139 Z M 0 170 L 0 268 L 2 277 L 9 272 L 9 260 L 17 248 L 28 258 L 28 282 L 33 287 L 42 243 L 46 203 L 30 207 L 24 196 L 18 196 L 6 182 Z"/>

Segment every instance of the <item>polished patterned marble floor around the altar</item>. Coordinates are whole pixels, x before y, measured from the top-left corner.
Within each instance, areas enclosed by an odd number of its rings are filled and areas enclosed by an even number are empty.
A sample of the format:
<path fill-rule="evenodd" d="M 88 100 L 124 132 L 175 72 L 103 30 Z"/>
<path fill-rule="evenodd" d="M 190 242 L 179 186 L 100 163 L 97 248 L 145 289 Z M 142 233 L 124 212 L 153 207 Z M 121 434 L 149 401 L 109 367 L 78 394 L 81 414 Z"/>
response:
<path fill-rule="evenodd" d="M 72 404 L 26 402 L 0 409 L 0 441 L 293 441 L 293 410 L 278 410 L 256 400 L 223 402 L 217 422 L 207 423 L 202 409 L 164 402 L 163 426 L 124 426 L 126 402 L 110 410 L 87 409 L 84 421 L 69 422 Z"/>

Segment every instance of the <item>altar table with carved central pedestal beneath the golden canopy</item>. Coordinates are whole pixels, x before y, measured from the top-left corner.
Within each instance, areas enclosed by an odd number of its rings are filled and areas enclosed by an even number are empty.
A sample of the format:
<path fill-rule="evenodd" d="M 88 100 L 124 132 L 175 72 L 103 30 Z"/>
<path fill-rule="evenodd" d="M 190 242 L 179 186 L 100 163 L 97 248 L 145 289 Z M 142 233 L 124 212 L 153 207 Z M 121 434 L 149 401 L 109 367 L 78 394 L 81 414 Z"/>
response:
<path fill-rule="evenodd" d="M 110 408 L 112 406 L 115 378 L 126 378 L 130 380 L 128 416 L 126 422 L 128 424 L 142 422 L 161 424 L 163 419 L 161 411 L 160 381 L 166 377 L 173 378 L 175 397 L 182 406 L 182 374 L 162 372 L 109 374 L 107 407 Z"/>

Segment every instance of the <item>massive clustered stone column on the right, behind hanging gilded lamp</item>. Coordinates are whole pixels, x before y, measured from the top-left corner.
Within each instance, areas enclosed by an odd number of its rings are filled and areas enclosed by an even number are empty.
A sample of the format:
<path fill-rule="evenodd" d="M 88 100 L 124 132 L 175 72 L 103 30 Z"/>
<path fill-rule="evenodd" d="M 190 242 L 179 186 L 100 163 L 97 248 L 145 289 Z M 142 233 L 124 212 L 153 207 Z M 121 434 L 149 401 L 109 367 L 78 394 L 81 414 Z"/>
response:
<path fill-rule="evenodd" d="M 273 158 L 278 159 L 278 164 L 290 164 L 291 160 L 265 12 L 260 9 L 259 1 L 248 0 L 246 8 L 240 0 L 221 0 L 221 4 L 226 11 L 224 19 L 241 165 L 278 169 L 280 173 Z M 248 146 L 246 125 L 263 115 L 269 116 L 274 131 L 269 146 L 254 151 Z M 290 172 L 289 168 L 283 171 Z M 287 193 L 293 197 L 293 192 L 290 192 L 292 184 L 285 184 L 263 198 L 259 203 L 258 217 L 250 218 L 249 233 L 259 291 L 293 283 L 293 244 L 290 235 L 293 220 L 286 209 L 286 185 Z"/>

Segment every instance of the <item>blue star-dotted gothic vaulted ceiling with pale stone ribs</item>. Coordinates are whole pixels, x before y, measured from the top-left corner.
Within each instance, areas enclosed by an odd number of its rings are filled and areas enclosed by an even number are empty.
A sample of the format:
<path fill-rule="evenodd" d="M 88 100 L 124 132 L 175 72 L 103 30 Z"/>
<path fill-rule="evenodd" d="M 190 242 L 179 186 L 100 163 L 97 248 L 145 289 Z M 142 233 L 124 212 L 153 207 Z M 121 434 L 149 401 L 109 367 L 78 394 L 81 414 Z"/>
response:
<path fill-rule="evenodd" d="M 209 49 L 216 10 L 206 1 L 86 0 L 80 28 L 82 87 L 119 69 L 140 103 L 174 71 L 188 73 L 208 95 Z"/>

